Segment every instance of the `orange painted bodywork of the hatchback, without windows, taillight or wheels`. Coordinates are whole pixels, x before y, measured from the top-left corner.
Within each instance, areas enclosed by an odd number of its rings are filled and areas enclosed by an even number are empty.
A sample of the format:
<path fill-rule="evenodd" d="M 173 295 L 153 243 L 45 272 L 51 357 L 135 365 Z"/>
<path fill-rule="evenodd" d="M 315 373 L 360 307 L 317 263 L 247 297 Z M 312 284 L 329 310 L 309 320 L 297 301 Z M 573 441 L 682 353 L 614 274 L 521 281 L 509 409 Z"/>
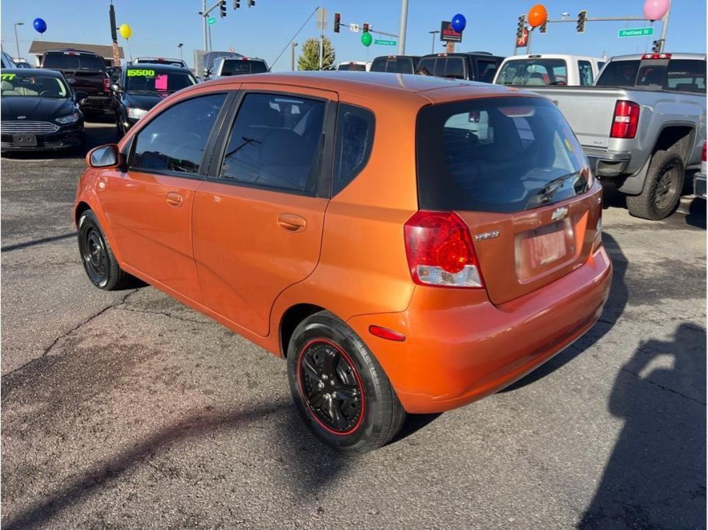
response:
<path fill-rule="evenodd" d="M 331 199 L 215 179 L 88 169 L 76 206 L 93 208 L 125 271 L 277 355 L 287 349 L 280 344 L 280 325 L 289 308 L 307 303 L 329 310 L 369 346 L 409 412 L 440 412 L 489 395 L 550 359 L 598 319 L 612 275 L 595 233 L 599 184 L 583 196 L 520 213 L 458 212 L 473 238 L 500 232 L 475 244 L 486 289 L 411 280 L 403 226 L 418 210 L 418 111 L 458 99 L 535 94 L 396 74 L 239 76 L 166 98 L 119 147 L 175 101 L 239 89 L 370 109 L 375 141 L 366 166 Z M 190 215 L 181 217 L 174 211 L 179 208 L 166 203 L 169 193 L 182 196 L 181 208 L 189 206 Z M 539 262 L 539 241 L 546 239 L 538 236 L 554 222 L 557 208 L 567 208 L 558 220 L 566 239 L 556 241 L 564 254 Z M 286 225 L 304 220 L 306 227 L 285 230 L 282 215 Z M 406 339 L 375 337 L 370 325 Z"/>

